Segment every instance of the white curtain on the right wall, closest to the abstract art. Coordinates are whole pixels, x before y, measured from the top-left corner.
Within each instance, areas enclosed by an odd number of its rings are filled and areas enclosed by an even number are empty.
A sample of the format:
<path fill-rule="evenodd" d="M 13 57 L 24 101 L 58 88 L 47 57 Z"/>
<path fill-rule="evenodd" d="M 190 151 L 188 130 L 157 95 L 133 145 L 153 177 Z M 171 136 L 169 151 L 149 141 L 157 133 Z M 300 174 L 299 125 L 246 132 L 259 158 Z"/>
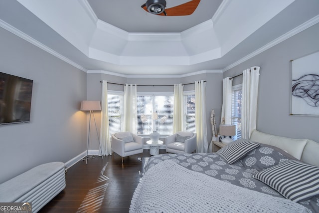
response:
<path fill-rule="evenodd" d="M 241 131 L 246 139 L 256 129 L 259 69 L 255 66 L 243 71 Z"/>

